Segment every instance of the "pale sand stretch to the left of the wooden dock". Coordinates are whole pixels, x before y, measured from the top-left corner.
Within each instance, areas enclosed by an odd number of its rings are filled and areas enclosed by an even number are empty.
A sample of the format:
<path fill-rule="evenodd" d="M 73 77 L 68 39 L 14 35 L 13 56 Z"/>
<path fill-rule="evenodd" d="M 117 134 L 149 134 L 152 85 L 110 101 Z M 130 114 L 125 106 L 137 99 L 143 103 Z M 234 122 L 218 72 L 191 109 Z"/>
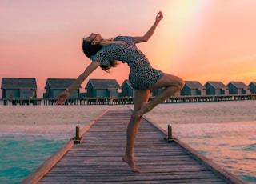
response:
<path fill-rule="evenodd" d="M 0 106 L 0 133 L 74 134 L 109 106 Z"/>

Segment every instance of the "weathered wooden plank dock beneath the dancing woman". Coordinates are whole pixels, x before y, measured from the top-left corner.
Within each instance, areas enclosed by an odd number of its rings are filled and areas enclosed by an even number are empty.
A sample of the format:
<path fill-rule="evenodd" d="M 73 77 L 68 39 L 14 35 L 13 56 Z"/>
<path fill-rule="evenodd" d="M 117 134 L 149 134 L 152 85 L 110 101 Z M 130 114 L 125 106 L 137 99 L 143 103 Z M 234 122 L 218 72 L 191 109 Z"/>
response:
<path fill-rule="evenodd" d="M 131 110 L 106 110 L 85 130 L 83 141 L 67 142 L 22 183 L 246 183 L 223 170 L 142 118 L 135 144 L 135 161 L 142 173 L 122 162 Z"/>

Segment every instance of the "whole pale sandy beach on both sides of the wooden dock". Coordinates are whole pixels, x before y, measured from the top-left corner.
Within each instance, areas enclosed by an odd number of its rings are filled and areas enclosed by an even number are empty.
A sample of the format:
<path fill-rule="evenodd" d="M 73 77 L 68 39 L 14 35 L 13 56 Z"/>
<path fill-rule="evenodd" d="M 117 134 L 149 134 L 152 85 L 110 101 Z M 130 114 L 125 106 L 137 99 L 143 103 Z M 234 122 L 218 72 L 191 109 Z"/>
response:
<path fill-rule="evenodd" d="M 132 106 L 0 106 L 2 134 L 74 134 L 75 126 L 88 125 L 107 108 Z M 161 104 L 146 114 L 151 122 L 174 136 L 207 136 L 256 131 L 256 101 Z M 128 123 L 128 122 L 127 122 Z M 196 128 L 196 129 L 195 129 Z"/>

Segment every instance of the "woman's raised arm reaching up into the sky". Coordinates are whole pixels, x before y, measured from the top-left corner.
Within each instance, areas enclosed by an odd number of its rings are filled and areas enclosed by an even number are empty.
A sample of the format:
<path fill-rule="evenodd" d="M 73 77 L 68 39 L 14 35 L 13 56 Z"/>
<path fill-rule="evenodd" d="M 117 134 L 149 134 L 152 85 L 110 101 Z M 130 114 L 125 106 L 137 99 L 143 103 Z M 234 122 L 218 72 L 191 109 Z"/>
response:
<path fill-rule="evenodd" d="M 135 43 L 147 42 L 150 39 L 150 37 L 154 34 L 154 30 L 157 28 L 158 23 L 162 20 L 162 18 L 163 18 L 162 11 L 159 11 L 155 18 L 155 22 L 153 26 L 150 27 L 150 30 L 148 30 L 146 34 L 144 34 L 144 36 L 142 37 L 134 37 L 134 42 Z"/>

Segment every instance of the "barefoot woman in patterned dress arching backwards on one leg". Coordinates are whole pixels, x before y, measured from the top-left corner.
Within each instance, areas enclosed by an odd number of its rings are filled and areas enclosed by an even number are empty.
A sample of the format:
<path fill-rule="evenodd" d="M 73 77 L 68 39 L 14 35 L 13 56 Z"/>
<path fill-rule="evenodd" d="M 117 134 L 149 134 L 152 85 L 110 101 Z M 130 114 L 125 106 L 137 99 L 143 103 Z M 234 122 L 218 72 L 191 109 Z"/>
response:
<path fill-rule="evenodd" d="M 141 37 L 118 36 L 113 40 L 108 40 L 102 38 L 100 34 L 90 34 L 89 37 L 84 38 L 82 49 L 92 62 L 74 83 L 57 97 L 58 104 L 66 102 L 70 92 L 77 89 L 98 66 L 101 66 L 102 70 L 108 71 L 117 65 L 117 61 L 127 63 L 130 67 L 129 80 L 134 88 L 134 111 L 127 127 L 126 153 L 122 161 L 128 163 L 130 169 L 138 173 L 140 170 L 134 162 L 134 143 L 142 115 L 181 90 L 184 85 L 182 78 L 153 69 L 146 56 L 135 45 L 147 42 L 162 18 L 163 15 L 160 11 L 155 18 L 154 25 Z M 148 102 L 150 90 L 162 87 L 164 87 L 162 92 Z"/>

